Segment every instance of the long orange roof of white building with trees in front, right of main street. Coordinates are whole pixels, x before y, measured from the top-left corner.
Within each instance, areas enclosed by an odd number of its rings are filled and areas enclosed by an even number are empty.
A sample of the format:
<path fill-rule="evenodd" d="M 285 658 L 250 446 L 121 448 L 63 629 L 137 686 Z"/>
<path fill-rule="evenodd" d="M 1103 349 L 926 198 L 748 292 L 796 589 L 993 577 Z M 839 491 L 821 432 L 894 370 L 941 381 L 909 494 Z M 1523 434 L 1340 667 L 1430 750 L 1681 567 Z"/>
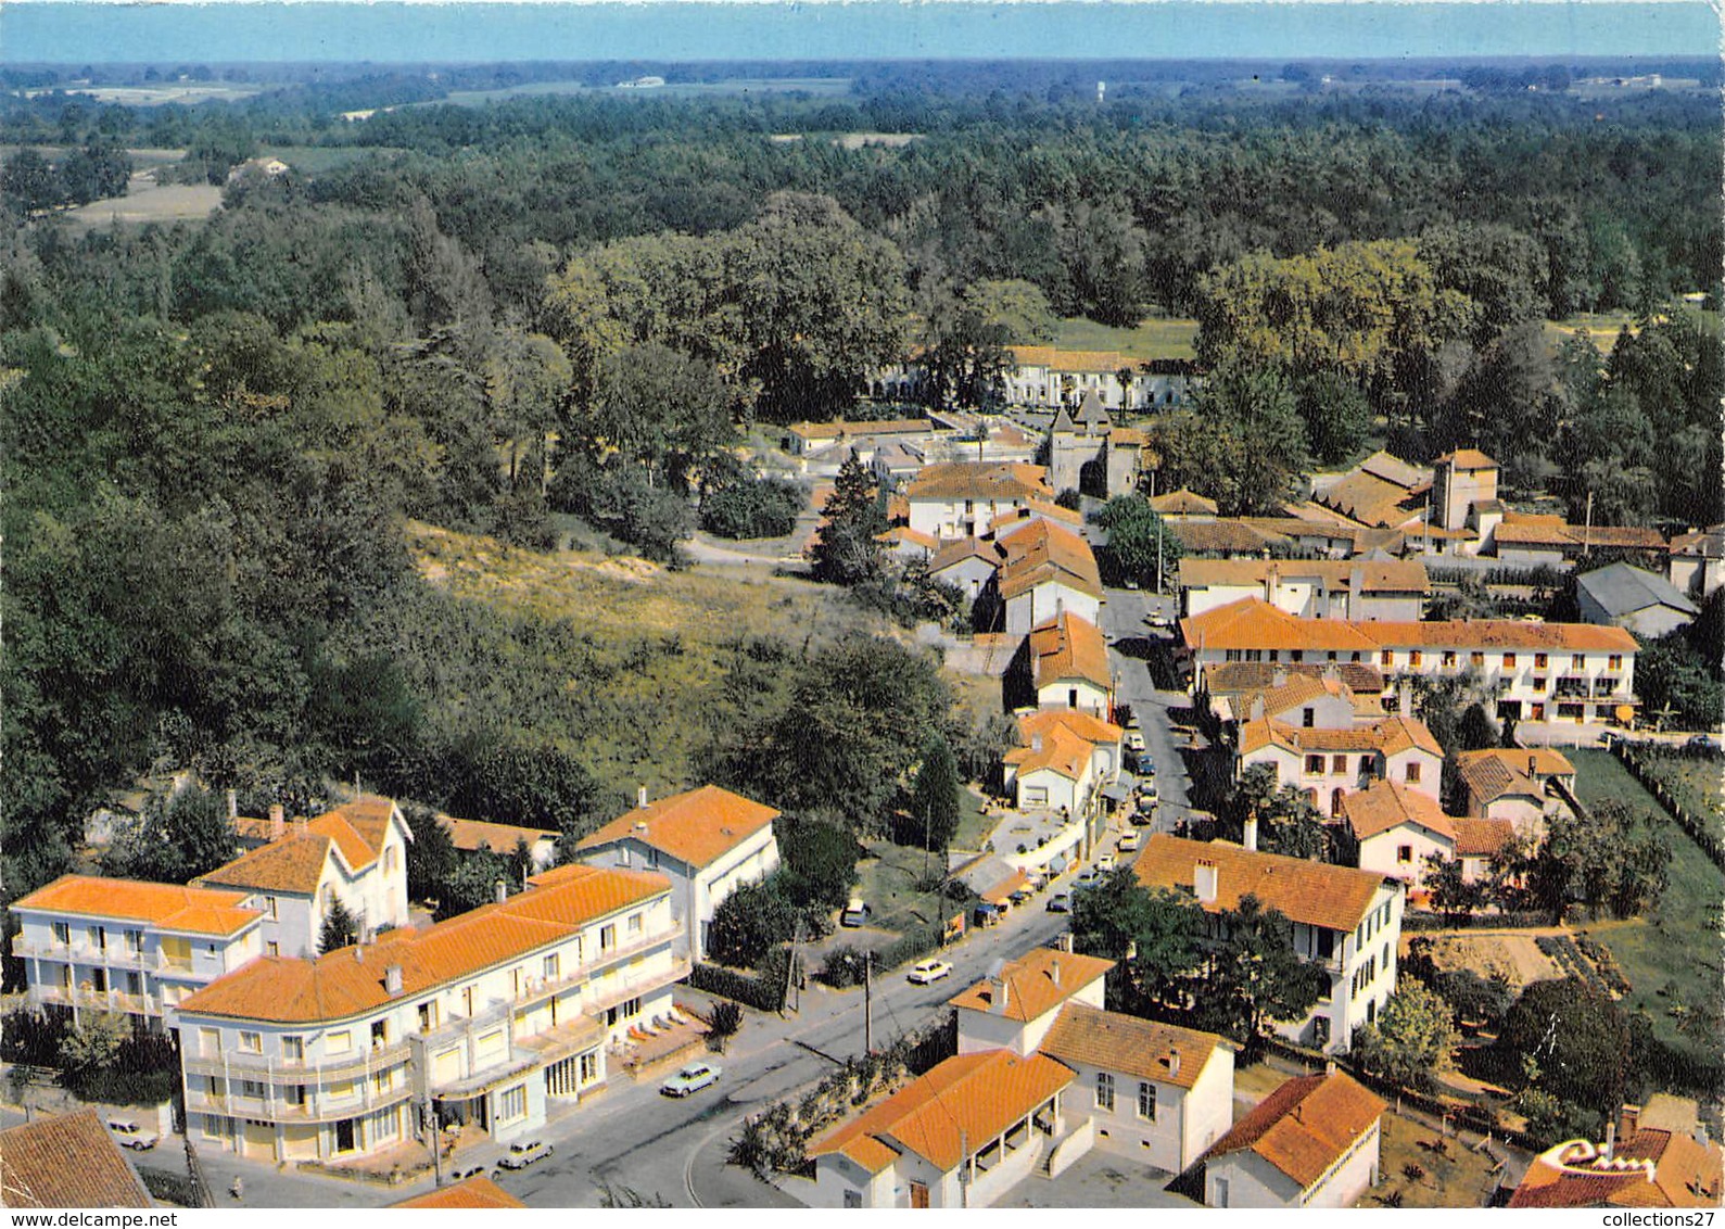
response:
<path fill-rule="evenodd" d="M 1145 887 L 1190 892 L 1199 860 L 1216 865 L 1216 899 L 1204 904 L 1208 911 L 1235 910 L 1240 898 L 1256 896 L 1264 908 L 1280 910 L 1292 922 L 1330 930 L 1358 927 L 1378 889 L 1394 882 L 1370 870 L 1251 853 L 1221 841 L 1187 841 L 1166 832 L 1144 842 L 1133 870 Z"/>

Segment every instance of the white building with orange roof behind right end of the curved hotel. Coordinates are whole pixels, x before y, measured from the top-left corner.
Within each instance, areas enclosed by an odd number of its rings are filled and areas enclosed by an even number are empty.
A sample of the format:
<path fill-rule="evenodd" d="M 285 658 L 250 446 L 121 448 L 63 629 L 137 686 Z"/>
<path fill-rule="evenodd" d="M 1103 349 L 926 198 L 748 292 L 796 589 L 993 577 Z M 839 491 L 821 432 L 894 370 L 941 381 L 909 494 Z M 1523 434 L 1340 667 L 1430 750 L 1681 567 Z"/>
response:
<path fill-rule="evenodd" d="M 719 903 L 778 868 L 778 811 L 718 785 L 640 804 L 576 846 L 592 867 L 656 870 L 671 880 L 671 913 L 687 936 L 681 951 L 702 960 Z"/>

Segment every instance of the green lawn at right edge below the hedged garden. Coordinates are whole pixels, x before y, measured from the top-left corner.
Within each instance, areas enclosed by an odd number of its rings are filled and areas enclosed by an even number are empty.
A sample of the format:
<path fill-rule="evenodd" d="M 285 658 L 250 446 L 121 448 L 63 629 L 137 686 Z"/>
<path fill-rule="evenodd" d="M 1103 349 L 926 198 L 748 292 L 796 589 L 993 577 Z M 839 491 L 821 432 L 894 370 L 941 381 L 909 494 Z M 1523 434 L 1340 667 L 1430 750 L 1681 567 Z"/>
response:
<path fill-rule="evenodd" d="M 1678 1025 L 1697 1005 L 1718 996 L 1716 930 L 1725 873 L 1708 861 L 1609 751 L 1578 747 L 1568 756 L 1575 763 L 1575 792 L 1582 804 L 1620 799 L 1661 816 L 1672 834 L 1672 882 L 1653 915 L 1632 922 L 1596 922 L 1577 930 L 1594 936 L 1616 956 L 1634 986 L 1623 999 L 1625 1006 L 1647 1012 L 1673 1046 L 1716 1056 L 1715 1037 L 1685 1036 Z"/>

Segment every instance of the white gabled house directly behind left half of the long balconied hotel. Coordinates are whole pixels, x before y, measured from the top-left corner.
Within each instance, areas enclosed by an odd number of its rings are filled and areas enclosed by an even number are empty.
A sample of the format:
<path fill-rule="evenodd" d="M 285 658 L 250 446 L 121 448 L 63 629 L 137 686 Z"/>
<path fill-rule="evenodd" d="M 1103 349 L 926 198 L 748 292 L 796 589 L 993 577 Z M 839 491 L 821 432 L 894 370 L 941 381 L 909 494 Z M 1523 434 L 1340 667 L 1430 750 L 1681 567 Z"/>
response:
<path fill-rule="evenodd" d="M 324 918 L 342 901 L 361 932 L 407 925 L 407 842 L 412 832 L 386 797 L 359 797 L 312 820 L 286 823 L 271 808 L 271 841 L 195 880 L 247 894 L 264 915 L 264 955 L 317 951 Z"/>

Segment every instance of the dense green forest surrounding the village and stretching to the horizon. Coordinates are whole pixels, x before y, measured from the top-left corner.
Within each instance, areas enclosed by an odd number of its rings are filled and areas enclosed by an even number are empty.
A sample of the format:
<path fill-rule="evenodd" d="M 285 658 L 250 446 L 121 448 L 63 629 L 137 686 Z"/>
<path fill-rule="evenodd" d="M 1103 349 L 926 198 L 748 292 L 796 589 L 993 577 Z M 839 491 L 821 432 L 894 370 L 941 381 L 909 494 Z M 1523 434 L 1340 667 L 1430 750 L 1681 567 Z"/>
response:
<path fill-rule="evenodd" d="M 1097 109 L 895 81 L 355 124 L 326 107 L 50 95 L 0 116 L 9 143 L 57 150 L 0 176 L 9 894 L 152 765 L 248 797 L 362 770 L 473 815 L 588 823 L 618 782 L 536 734 L 521 697 L 580 692 L 576 716 L 616 718 L 631 654 L 680 649 L 612 652 L 435 592 L 405 520 L 543 547 L 576 514 L 674 559 L 693 497 L 754 499 L 735 495 L 749 425 L 859 413 L 868 375 L 913 345 L 963 371 L 1054 316 L 1197 316 L 1209 388 L 1154 430 L 1171 470 L 1240 511 L 1383 430 L 1411 456 L 1478 442 L 1521 490 L 1592 495 L 1601 521 L 1720 520 L 1716 318 L 1670 306 L 1718 306 L 1704 97 Z M 919 138 L 833 140 L 859 131 Z M 181 174 L 226 183 L 224 207 L 66 224 L 67 162 L 145 147 L 186 150 Z M 347 157 L 229 180 L 266 147 Z M 1609 354 L 1544 343 L 1540 321 L 1601 309 L 1644 326 Z M 580 666 L 476 701 L 523 644 Z M 868 658 L 885 651 L 852 649 L 871 677 L 914 675 L 926 730 L 933 682 Z M 747 747 L 795 728 L 761 696 L 833 730 L 902 699 L 859 673 L 828 711 L 781 642 L 738 640 L 724 668 L 697 758 L 738 780 Z"/>

